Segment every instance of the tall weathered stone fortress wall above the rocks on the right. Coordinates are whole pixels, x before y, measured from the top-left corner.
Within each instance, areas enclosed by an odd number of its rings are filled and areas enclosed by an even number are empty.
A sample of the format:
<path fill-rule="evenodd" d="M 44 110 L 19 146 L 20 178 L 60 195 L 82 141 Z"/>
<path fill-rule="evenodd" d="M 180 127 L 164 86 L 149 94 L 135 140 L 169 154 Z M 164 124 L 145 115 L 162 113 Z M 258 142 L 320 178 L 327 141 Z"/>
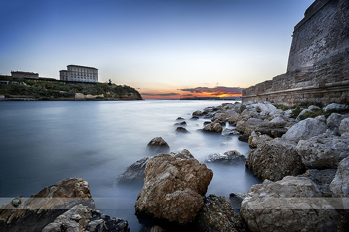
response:
<path fill-rule="evenodd" d="M 286 73 L 245 88 L 248 100 L 349 101 L 349 1 L 314 1 L 293 31 Z"/>

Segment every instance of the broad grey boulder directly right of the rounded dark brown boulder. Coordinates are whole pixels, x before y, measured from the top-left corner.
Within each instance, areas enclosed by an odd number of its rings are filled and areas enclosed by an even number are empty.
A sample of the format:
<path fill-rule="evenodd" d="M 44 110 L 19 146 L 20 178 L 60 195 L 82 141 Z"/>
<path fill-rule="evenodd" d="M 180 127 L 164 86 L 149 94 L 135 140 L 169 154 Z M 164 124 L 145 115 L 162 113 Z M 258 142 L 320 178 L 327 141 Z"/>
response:
<path fill-rule="evenodd" d="M 299 141 L 297 152 L 308 169 L 337 169 L 339 162 L 349 156 L 349 138 L 320 134 Z"/>

